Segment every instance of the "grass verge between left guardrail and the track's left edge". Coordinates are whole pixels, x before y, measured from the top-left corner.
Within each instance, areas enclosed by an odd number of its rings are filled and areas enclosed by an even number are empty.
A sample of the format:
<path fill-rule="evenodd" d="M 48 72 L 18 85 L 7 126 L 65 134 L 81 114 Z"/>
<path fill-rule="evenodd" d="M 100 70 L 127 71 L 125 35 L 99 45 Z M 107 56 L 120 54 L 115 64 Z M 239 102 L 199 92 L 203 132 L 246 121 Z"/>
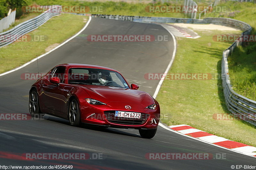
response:
<path fill-rule="evenodd" d="M 47 35 L 46 41 L 14 42 L 0 49 L 0 73 L 16 68 L 42 55 L 45 49 L 52 44 L 59 44 L 85 25 L 84 19 L 88 17 L 72 14 L 61 14 L 48 20 L 38 29 L 28 35 Z"/>

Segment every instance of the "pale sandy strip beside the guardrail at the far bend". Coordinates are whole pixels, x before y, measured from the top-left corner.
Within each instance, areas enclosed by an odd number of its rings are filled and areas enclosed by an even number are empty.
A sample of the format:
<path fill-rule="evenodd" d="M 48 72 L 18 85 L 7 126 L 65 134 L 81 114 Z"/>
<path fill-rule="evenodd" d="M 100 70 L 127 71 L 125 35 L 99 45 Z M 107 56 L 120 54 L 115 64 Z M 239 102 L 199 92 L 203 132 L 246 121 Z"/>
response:
<path fill-rule="evenodd" d="M 173 23 L 172 25 L 181 26 L 184 28 L 192 28 L 194 30 L 220 30 L 220 31 L 240 31 L 235 28 L 228 26 L 220 26 L 215 24 L 184 24 L 184 23 Z"/>

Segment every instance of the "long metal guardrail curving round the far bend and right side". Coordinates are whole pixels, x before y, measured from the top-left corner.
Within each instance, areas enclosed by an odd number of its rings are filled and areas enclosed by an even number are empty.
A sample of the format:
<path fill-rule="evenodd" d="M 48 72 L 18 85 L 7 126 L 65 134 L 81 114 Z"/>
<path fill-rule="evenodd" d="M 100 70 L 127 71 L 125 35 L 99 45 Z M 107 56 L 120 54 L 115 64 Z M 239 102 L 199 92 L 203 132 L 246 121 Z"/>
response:
<path fill-rule="evenodd" d="M 119 15 L 100 15 L 92 14 L 92 17 L 117 19 L 124 21 L 134 21 L 142 23 L 189 23 L 189 24 L 216 24 L 222 26 L 229 26 L 243 31 L 242 35 L 248 35 L 252 31 L 252 27 L 236 19 L 230 18 L 204 18 L 204 19 L 192 19 L 192 18 L 169 18 L 169 17 L 141 17 L 141 16 L 119 16 Z M 225 74 L 225 78 L 222 79 L 223 92 L 226 100 L 228 110 L 238 116 L 242 115 L 246 122 L 249 122 L 256 126 L 256 101 L 250 100 L 240 94 L 237 94 L 232 90 L 230 84 L 230 78 L 228 74 L 228 56 L 232 54 L 234 49 L 241 45 L 242 41 L 235 41 L 228 49 L 223 51 L 221 73 Z"/>

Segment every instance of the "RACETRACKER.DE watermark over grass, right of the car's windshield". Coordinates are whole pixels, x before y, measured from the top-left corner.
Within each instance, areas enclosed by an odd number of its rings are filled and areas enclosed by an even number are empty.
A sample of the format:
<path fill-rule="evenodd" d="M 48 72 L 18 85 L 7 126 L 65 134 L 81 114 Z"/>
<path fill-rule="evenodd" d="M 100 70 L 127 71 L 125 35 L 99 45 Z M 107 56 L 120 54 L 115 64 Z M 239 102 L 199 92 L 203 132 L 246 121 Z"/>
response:
<path fill-rule="evenodd" d="M 146 80 L 218 80 L 224 79 L 225 74 L 219 73 L 146 73 Z"/>

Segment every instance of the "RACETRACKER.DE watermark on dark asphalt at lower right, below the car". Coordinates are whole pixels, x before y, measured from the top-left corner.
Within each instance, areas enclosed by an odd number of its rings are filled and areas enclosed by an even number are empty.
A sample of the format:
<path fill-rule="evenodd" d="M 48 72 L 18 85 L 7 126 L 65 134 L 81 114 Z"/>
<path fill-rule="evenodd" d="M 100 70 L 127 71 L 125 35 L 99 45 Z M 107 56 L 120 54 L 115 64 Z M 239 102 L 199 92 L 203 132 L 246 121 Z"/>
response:
<path fill-rule="evenodd" d="M 146 153 L 149 160 L 210 160 L 226 159 L 226 153 Z"/>

